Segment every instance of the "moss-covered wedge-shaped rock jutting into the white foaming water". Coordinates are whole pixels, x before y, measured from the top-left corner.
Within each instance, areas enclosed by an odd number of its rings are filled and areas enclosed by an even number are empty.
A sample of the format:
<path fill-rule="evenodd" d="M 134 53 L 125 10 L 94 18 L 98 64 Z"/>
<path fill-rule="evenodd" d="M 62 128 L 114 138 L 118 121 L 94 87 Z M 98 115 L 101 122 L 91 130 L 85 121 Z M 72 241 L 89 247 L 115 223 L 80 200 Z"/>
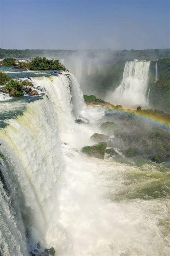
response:
<path fill-rule="evenodd" d="M 81 149 L 82 153 L 88 154 L 91 157 L 104 159 L 105 150 L 107 148 L 106 142 L 99 142 L 93 146 L 86 146 Z"/>

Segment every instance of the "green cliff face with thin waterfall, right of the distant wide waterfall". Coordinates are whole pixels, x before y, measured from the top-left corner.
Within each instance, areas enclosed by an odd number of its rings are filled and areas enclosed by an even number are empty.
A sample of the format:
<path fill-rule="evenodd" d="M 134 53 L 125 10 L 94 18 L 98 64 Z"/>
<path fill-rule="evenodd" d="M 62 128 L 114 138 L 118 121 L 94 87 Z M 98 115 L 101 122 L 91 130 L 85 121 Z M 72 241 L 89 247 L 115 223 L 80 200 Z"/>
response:
<path fill-rule="evenodd" d="M 156 109 L 170 112 L 170 58 L 150 63 L 149 102 Z"/>

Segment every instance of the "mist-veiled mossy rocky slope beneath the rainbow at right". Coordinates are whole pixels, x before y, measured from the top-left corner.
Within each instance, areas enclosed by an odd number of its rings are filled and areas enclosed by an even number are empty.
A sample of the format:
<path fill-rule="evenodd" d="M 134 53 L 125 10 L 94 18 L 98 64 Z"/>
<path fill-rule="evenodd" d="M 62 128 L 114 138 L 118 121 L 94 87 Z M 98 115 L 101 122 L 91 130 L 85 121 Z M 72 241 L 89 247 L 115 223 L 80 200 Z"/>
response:
<path fill-rule="evenodd" d="M 140 110 L 138 116 L 134 112 L 109 109 L 105 118 L 110 122 L 105 122 L 101 128 L 107 129 L 107 133 L 111 130 L 114 132 L 114 140 L 107 141 L 108 147 L 121 149 L 127 157 L 143 155 L 151 159 L 151 156 L 158 156 L 167 160 L 170 154 L 170 114 L 144 109 Z M 160 121 L 162 126 L 157 125 L 157 121 Z"/>

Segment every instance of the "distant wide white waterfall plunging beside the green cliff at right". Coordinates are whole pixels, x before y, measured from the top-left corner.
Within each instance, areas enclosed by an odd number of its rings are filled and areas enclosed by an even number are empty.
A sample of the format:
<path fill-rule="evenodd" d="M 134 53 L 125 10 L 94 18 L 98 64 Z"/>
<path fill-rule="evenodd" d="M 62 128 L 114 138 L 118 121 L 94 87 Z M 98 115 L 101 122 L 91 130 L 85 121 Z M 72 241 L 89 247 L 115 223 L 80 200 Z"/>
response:
<path fill-rule="evenodd" d="M 122 82 L 113 94 L 107 96 L 107 100 L 125 107 L 147 105 L 149 66 L 150 62 L 146 61 L 126 62 Z"/>

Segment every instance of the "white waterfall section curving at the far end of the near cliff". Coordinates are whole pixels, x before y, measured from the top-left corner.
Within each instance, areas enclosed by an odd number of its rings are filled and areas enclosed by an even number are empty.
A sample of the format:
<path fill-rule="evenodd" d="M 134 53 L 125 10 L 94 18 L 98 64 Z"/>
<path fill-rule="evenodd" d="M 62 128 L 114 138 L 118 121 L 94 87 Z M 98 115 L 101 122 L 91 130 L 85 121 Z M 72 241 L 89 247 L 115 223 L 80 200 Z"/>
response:
<path fill-rule="evenodd" d="M 83 116 L 86 108 L 80 85 L 76 78 L 63 72 L 60 76 L 32 77 L 35 87 L 45 89 L 53 109 L 57 114 L 59 126 L 67 126 Z"/>

